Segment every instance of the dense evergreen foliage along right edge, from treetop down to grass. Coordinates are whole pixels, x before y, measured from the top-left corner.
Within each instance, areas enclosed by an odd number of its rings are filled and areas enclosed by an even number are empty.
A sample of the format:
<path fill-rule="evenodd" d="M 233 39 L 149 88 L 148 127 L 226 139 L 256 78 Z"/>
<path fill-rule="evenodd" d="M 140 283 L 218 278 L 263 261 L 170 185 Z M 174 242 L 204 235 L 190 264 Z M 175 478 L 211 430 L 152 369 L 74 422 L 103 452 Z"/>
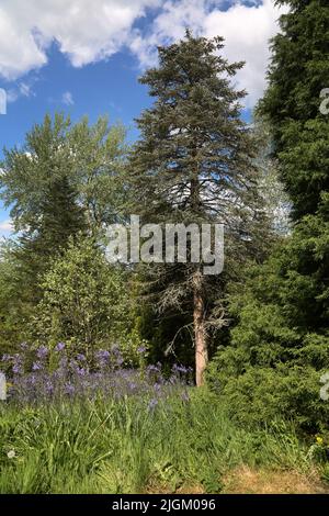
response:
<path fill-rule="evenodd" d="M 329 369 L 329 5 L 290 1 L 273 40 L 269 89 L 259 111 L 293 201 L 295 225 L 230 300 L 237 323 L 219 348 L 209 382 L 242 420 L 276 415 L 315 430 L 328 424 L 320 378 Z"/>

